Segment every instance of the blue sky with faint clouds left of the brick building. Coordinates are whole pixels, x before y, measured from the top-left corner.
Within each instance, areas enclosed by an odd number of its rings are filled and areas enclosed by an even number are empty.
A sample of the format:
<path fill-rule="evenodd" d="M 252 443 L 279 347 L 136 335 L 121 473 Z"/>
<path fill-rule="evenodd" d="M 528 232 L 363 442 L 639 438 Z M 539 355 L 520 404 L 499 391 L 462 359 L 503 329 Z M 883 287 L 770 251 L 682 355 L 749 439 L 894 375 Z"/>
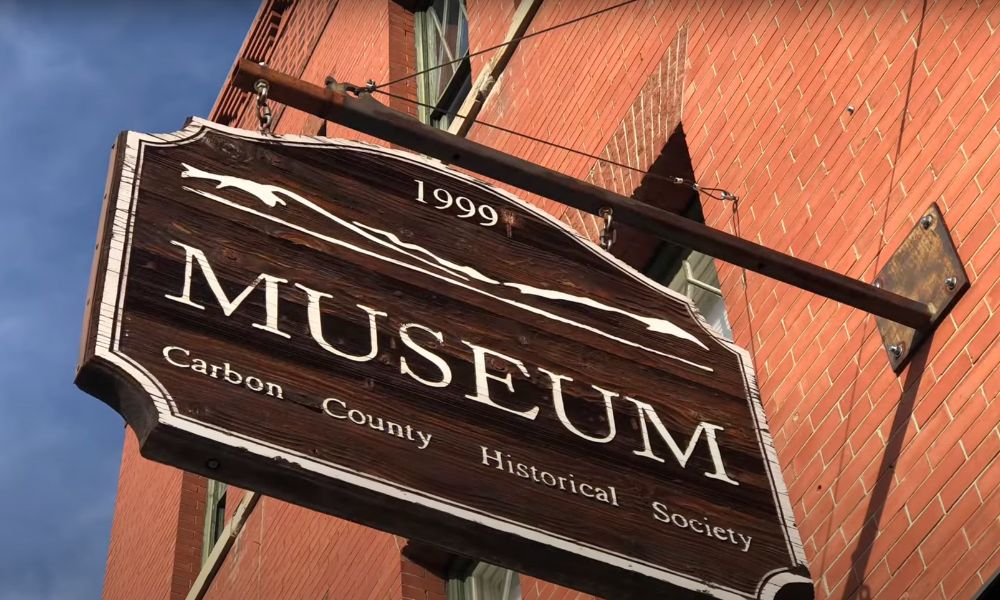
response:
<path fill-rule="evenodd" d="M 0 0 L 0 600 L 100 597 L 123 436 L 73 386 L 108 152 L 207 116 L 257 0 Z"/>

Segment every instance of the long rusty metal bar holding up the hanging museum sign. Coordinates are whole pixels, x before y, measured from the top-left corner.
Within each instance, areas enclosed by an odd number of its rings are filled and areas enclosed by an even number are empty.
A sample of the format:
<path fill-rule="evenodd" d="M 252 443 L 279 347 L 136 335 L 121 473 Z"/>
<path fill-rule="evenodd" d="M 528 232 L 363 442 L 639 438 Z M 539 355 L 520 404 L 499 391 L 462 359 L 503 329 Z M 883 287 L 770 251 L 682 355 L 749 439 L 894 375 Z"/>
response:
<path fill-rule="evenodd" d="M 355 98 L 245 59 L 237 63 L 233 85 L 252 91 L 258 79 L 268 81 L 273 100 L 303 112 L 591 214 L 598 214 L 602 207 L 610 207 L 617 222 L 661 240 L 714 256 L 916 330 L 932 327 L 931 310 L 921 302 L 424 125 L 371 97 Z"/>

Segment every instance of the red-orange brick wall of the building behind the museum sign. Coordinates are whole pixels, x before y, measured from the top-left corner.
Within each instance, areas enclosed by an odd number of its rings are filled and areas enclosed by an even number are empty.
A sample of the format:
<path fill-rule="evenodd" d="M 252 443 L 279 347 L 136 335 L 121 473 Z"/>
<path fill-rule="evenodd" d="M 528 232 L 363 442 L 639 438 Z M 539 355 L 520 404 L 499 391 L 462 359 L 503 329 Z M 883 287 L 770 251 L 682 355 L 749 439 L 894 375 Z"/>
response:
<path fill-rule="evenodd" d="M 284 9 L 270 64 L 318 84 L 409 69 L 402 6 L 341 0 L 325 14 L 320 4 Z M 528 31 L 611 4 L 546 0 Z M 515 8 L 470 0 L 472 47 L 502 40 Z M 872 317 L 719 265 L 819 598 L 966 599 L 1000 566 L 1000 326 L 990 319 L 1000 306 L 998 24 L 997 8 L 957 0 L 647 0 L 523 42 L 479 115 L 663 175 L 683 176 L 661 163 L 680 131 L 698 181 L 741 196 L 738 205 L 703 198 L 711 225 L 867 281 L 928 203 L 942 206 L 972 288 L 899 377 Z M 224 90 L 214 116 L 230 110 L 254 128 L 251 112 L 231 108 L 246 101 Z M 291 109 L 278 121 L 279 132 L 316 127 Z M 469 137 L 675 210 L 686 198 L 482 125 Z M 525 197 L 595 237 L 591 217 Z M 122 559 L 133 554 L 151 574 L 142 597 L 168 593 L 169 560 L 150 548 L 172 548 L 176 536 L 163 530 L 177 527 L 175 513 L 150 520 L 140 507 L 147 486 L 180 485 L 126 444 L 107 583 L 118 595 L 107 597 L 129 597 L 145 572 Z M 263 499 L 208 597 L 440 600 L 440 573 L 401 559 L 403 544 Z M 527 577 L 522 586 L 526 600 L 585 597 Z"/>

